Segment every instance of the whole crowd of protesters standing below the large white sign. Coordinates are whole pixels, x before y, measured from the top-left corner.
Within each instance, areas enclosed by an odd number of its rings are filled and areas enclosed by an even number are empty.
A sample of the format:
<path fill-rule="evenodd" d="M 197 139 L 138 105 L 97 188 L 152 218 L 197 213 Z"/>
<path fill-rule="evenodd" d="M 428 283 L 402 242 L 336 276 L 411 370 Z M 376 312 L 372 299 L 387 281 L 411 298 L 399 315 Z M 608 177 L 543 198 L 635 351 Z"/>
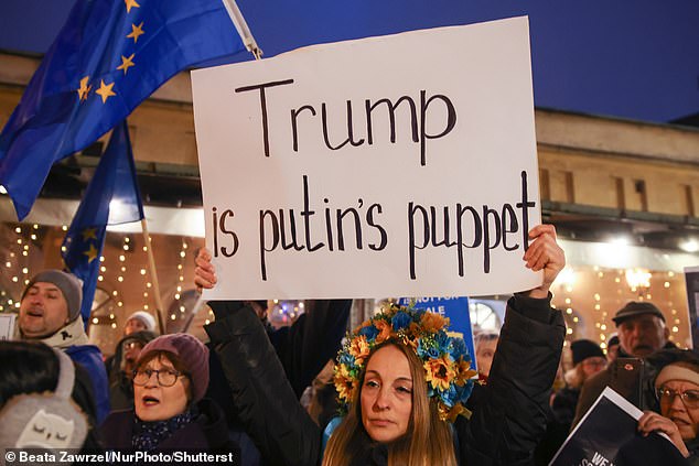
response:
<path fill-rule="evenodd" d="M 265 301 L 214 301 L 206 344 L 157 336 L 139 311 L 105 362 L 84 330 L 79 281 L 43 271 L 22 294 L 14 340 L 0 342 L 0 448 L 187 449 L 241 465 L 548 464 L 610 386 L 644 411 L 632 457 L 654 464 L 670 447 L 664 464 L 699 464 L 699 357 L 674 347 L 652 303 L 616 312 L 617 348 L 572 342 L 572 367 L 552 389 L 566 326 L 549 289 L 566 260 L 553 227 L 530 239 L 524 261 L 542 283 L 514 294 L 499 332 L 475 336 L 475 355 L 419 308 L 386 306 L 345 334 L 351 300 L 313 301 L 281 329 Z M 197 288 L 216 286 L 208 251 L 196 264 Z M 612 356 L 641 360 L 639 377 L 620 377 Z"/>

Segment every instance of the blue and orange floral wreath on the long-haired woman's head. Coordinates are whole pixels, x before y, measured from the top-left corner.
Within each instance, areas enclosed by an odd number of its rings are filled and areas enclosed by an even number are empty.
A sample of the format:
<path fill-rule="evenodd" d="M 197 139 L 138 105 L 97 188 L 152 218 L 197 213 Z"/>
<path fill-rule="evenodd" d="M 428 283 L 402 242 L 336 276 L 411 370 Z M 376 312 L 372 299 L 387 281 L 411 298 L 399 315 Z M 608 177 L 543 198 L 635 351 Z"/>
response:
<path fill-rule="evenodd" d="M 394 339 L 410 347 L 422 361 L 428 395 L 437 400 L 443 421 L 454 422 L 460 414 L 470 415 L 464 403 L 473 390 L 476 371 L 462 338 L 447 335 L 449 318 L 413 307 L 390 304 L 364 322 L 337 354 L 335 389 L 341 410 L 347 410 L 366 359 L 381 343 Z"/>

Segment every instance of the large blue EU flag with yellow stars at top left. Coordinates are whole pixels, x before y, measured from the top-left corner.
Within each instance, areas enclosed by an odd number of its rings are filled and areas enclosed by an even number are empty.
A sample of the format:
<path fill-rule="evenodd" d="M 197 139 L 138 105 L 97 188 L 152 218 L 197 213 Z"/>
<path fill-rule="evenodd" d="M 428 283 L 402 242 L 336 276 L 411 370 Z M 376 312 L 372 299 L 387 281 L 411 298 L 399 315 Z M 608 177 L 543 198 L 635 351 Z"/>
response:
<path fill-rule="evenodd" d="M 0 185 L 24 218 L 53 163 L 161 84 L 244 50 L 222 0 L 80 0 L 0 133 Z"/>

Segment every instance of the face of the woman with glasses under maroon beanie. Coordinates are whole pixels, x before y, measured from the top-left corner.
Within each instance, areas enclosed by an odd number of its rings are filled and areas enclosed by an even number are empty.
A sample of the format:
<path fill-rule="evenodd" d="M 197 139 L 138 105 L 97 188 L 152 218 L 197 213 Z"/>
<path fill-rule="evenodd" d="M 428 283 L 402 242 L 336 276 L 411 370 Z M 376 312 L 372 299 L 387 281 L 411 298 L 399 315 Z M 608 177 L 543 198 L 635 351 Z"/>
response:
<path fill-rule="evenodd" d="M 150 370 L 169 370 L 176 372 L 166 358 L 155 358 L 150 360 L 139 371 Z M 172 387 L 162 387 L 154 372 L 144 386 L 133 383 L 133 407 L 136 409 L 136 415 L 141 421 L 164 421 L 178 414 L 184 412 L 187 405 L 187 393 L 185 387 L 186 378 L 184 376 L 178 377 Z"/>

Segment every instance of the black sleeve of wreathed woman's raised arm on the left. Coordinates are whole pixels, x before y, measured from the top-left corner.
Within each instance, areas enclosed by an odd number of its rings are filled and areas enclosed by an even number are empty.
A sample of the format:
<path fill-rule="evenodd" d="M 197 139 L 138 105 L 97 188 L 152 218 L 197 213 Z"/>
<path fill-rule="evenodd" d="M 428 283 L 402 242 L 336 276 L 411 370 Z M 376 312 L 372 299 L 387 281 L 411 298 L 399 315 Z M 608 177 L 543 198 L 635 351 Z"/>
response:
<path fill-rule="evenodd" d="M 209 305 L 216 311 L 230 303 Z M 222 314 L 205 329 L 247 434 L 270 465 L 315 465 L 320 430 L 298 402 L 260 319 L 247 306 Z"/>

